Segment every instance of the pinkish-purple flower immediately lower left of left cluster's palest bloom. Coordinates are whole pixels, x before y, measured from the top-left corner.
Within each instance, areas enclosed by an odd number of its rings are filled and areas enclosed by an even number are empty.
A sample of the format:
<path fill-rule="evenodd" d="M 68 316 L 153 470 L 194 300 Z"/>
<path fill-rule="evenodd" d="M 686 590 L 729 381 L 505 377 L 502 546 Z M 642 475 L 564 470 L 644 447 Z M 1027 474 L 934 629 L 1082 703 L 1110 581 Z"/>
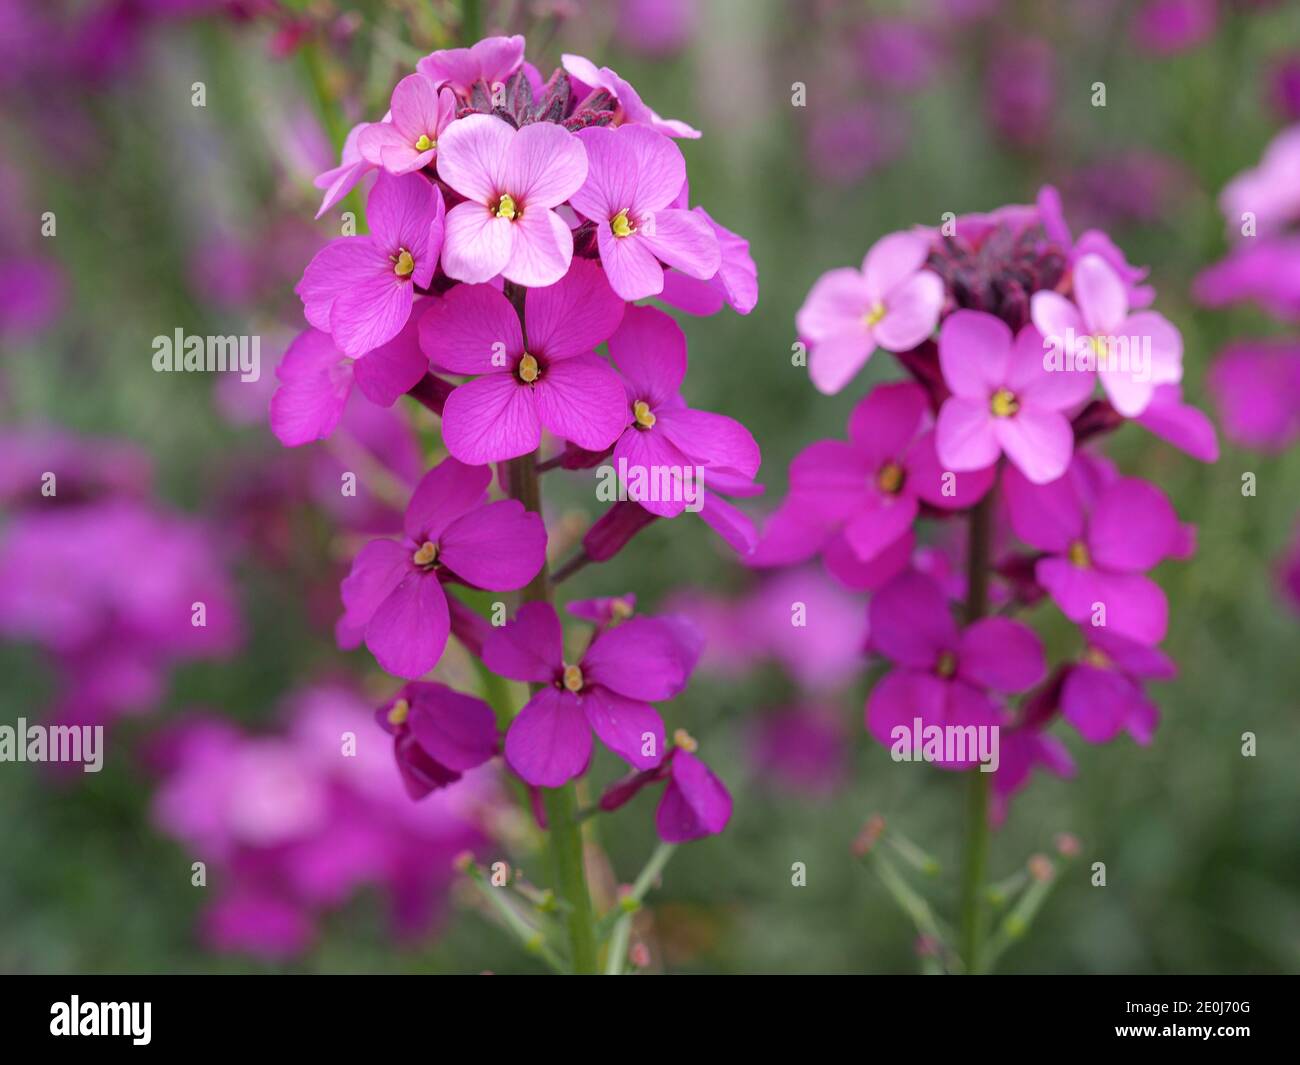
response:
<path fill-rule="evenodd" d="M 307 321 L 354 359 L 391 341 L 415 289 L 433 281 L 443 211 L 442 192 L 420 174 L 380 174 L 367 202 L 370 235 L 330 241 L 298 282 Z"/>

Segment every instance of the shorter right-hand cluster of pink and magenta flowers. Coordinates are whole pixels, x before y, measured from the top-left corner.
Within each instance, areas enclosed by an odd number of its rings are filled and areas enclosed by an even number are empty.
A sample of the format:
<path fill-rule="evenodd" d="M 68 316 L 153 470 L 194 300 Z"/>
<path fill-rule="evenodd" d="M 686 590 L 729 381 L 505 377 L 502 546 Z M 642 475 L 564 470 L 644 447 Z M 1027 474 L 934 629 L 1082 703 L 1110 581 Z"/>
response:
<path fill-rule="evenodd" d="M 1121 731 L 1147 743 L 1157 714 L 1144 684 L 1174 671 L 1156 646 L 1167 605 L 1149 573 L 1193 553 L 1191 531 L 1156 485 L 1096 449 L 1138 421 L 1217 458 L 1209 420 L 1182 401 L 1180 334 L 1144 282 L 1104 233 L 1074 239 L 1044 189 L 1034 205 L 881 238 L 861 270 L 823 276 L 798 313 L 822 391 L 845 388 L 878 348 L 909 380 L 874 386 L 848 440 L 798 454 L 749 560 L 820 555 L 841 584 L 874 593 L 870 645 L 892 668 L 867 728 L 896 750 L 915 719 L 1001 730 L 998 815 L 1032 765 L 1070 771 L 1044 735 L 1058 713 L 1091 743 Z M 948 537 L 957 516 L 983 521 L 983 536 Z M 939 524 L 936 546 L 918 547 L 922 519 Z M 936 547 L 949 553 L 937 566 Z M 1039 636 L 1009 616 L 1041 599 L 1078 627 L 1078 654 L 1050 672 Z M 983 616 L 991 602 L 997 616 Z"/>

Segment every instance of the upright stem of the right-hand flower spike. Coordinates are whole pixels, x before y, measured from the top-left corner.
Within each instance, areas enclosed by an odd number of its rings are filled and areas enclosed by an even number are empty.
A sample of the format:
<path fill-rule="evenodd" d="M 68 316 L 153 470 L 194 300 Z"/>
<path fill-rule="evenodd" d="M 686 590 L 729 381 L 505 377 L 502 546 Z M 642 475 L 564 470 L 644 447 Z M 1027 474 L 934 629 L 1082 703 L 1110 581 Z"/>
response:
<path fill-rule="evenodd" d="M 993 493 L 989 492 L 970 515 L 966 555 L 966 623 L 988 614 L 988 575 L 992 554 Z M 988 867 L 988 789 L 991 774 L 979 766 L 967 771 L 966 853 L 962 860 L 961 941 L 967 973 L 980 971 L 984 939 L 984 878 Z"/>

